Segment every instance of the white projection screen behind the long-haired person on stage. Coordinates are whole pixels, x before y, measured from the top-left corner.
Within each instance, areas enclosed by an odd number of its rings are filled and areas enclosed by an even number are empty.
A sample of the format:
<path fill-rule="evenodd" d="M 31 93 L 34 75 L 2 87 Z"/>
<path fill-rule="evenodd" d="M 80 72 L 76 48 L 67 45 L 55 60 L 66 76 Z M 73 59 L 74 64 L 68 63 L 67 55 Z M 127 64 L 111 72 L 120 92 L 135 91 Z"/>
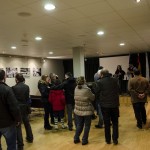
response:
<path fill-rule="evenodd" d="M 110 73 L 115 74 L 117 65 L 121 65 L 122 69 L 127 73 L 129 67 L 129 56 L 105 57 L 100 58 L 99 63 L 104 68 L 108 69 Z M 125 76 L 126 78 L 127 76 Z"/>

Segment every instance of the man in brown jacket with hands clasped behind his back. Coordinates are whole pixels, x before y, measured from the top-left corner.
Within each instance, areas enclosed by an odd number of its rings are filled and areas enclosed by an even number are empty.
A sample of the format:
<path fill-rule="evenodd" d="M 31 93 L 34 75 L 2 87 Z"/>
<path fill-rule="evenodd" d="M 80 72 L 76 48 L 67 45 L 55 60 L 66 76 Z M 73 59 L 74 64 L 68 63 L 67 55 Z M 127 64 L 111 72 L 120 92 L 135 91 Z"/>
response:
<path fill-rule="evenodd" d="M 128 90 L 131 94 L 131 101 L 134 109 L 137 127 L 142 129 L 142 124 L 146 124 L 145 103 L 149 91 L 149 82 L 146 78 L 140 76 L 140 71 L 134 71 L 135 77 L 131 78 L 128 83 Z"/>

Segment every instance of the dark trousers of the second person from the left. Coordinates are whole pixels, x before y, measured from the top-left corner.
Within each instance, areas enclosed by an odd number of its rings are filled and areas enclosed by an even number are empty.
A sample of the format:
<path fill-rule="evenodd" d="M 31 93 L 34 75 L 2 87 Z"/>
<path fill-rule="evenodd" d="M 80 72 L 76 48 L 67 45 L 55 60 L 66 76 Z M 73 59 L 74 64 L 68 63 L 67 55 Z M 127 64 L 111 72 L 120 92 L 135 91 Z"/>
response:
<path fill-rule="evenodd" d="M 28 141 L 33 141 L 33 133 L 32 133 L 31 125 L 27 114 L 27 107 L 20 106 L 20 110 L 21 110 L 22 122 L 24 124 L 25 131 L 26 131 L 26 139 Z M 22 148 L 24 146 L 21 124 L 17 127 L 17 145 L 18 148 Z"/>

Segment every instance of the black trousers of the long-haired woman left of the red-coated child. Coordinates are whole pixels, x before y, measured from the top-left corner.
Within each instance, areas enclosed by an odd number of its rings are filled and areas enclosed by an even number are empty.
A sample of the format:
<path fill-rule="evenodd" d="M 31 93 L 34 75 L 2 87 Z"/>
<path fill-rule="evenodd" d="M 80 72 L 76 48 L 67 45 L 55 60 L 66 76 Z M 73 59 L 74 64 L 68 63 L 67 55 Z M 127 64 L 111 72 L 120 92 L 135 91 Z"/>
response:
<path fill-rule="evenodd" d="M 44 128 L 47 128 L 50 126 L 49 122 L 49 116 L 51 117 L 51 123 L 54 123 L 54 116 L 53 116 L 53 110 L 52 106 L 49 102 L 43 102 L 44 107 Z"/>

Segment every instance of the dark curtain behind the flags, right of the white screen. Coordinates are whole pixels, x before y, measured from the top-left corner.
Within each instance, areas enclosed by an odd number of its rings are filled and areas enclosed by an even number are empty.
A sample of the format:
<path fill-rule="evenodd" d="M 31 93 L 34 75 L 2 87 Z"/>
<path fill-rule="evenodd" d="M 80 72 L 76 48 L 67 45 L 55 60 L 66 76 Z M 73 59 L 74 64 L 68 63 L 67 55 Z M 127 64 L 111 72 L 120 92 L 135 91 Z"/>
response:
<path fill-rule="evenodd" d="M 146 77 L 146 54 L 145 53 L 130 54 L 129 64 L 133 64 L 134 67 L 138 68 L 138 57 L 141 64 L 141 74 L 143 77 Z"/>

